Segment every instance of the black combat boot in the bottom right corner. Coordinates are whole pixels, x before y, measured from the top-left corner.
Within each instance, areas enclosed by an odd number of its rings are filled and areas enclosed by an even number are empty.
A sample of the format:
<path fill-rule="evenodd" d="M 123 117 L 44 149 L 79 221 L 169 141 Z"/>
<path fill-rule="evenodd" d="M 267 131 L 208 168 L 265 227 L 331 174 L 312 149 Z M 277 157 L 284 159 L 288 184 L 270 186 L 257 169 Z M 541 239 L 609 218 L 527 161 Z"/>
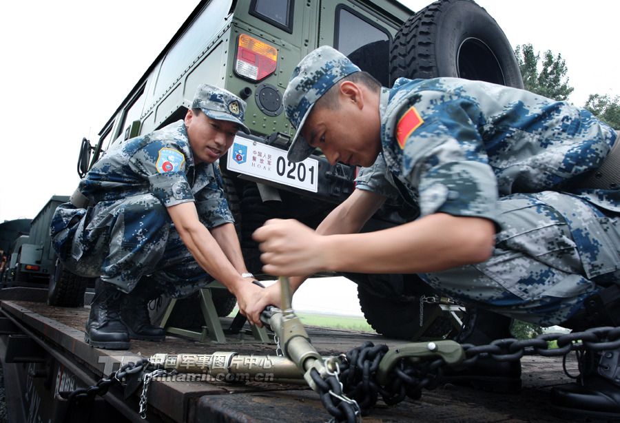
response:
<path fill-rule="evenodd" d="M 556 386 L 551 402 L 567 417 L 620 421 L 620 348 L 585 353 L 577 382 Z"/>

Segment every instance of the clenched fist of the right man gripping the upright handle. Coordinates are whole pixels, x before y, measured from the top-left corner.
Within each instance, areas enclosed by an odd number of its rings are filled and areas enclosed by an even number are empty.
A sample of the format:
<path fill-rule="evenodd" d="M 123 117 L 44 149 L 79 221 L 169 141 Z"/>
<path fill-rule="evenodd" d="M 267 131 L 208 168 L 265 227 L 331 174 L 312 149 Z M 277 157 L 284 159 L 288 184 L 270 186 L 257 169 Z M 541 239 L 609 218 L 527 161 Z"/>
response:
<path fill-rule="evenodd" d="M 273 276 L 306 276 L 327 270 L 324 236 L 297 220 L 271 219 L 252 238 L 260 245 L 262 270 Z"/>

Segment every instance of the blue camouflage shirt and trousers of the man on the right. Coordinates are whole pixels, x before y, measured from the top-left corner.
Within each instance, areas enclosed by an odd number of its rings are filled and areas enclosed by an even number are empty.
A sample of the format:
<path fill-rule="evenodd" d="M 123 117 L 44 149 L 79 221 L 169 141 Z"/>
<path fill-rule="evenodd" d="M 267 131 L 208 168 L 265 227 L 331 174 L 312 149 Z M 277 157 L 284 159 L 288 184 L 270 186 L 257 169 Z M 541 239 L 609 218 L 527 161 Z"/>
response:
<path fill-rule="evenodd" d="M 404 197 L 420 216 L 493 220 L 493 256 L 420 275 L 453 298 L 543 325 L 620 278 L 620 190 L 575 189 L 616 134 L 590 112 L 462 79 L 382 89 L 382 150 L 358 189 Z M 415 251 L 412 251 L 415 254 Z"/>

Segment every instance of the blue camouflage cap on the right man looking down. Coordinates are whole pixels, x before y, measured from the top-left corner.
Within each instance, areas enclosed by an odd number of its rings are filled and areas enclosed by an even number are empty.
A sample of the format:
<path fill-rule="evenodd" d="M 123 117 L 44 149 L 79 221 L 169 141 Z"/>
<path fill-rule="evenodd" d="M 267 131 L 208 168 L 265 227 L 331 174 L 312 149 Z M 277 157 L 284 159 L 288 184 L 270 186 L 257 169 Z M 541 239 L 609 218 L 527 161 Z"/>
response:
<path fill-rule="evenodd" d="M 297 128 L 288 153 L 291 162 L 304 160 L 314 150 L 301 134 L 313 105 L 335 83 L 355 72 L 360 68 L 329 45 L 310 52 L 293 70 L 283 98 L 287 118 Z"/>

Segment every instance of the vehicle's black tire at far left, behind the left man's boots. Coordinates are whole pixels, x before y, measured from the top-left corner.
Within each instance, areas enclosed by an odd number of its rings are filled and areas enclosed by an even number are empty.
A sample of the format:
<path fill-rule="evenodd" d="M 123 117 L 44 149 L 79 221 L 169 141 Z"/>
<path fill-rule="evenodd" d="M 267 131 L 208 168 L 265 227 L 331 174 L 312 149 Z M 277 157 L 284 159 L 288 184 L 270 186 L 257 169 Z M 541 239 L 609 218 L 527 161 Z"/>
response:
<path fill-rule="evenodd" d="M 83 307 L 84 293 L 92 279 L 72 274 L 56 259 L 48 285 L 48 304 L 56 307 Z"/>

